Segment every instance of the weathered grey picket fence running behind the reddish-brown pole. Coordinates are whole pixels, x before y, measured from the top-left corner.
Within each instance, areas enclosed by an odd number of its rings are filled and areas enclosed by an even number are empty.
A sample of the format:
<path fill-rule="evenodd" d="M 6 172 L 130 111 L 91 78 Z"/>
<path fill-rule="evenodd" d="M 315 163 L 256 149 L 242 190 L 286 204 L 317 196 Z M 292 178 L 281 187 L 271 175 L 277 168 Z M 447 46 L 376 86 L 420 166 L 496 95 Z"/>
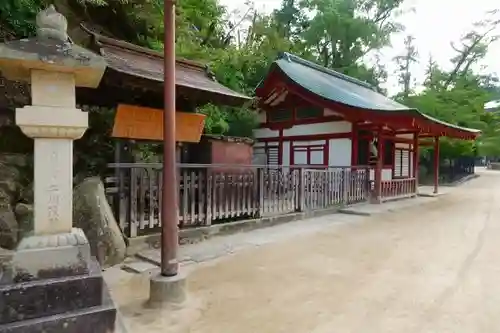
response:
<path fill-rule="evenodd" d="M 161 164 L 111 164 L 106 193 L 129 237 L 157 232 Z M 324 209 L 368 200 L 368 169 L 179 165 L 180 227 Z"/>

